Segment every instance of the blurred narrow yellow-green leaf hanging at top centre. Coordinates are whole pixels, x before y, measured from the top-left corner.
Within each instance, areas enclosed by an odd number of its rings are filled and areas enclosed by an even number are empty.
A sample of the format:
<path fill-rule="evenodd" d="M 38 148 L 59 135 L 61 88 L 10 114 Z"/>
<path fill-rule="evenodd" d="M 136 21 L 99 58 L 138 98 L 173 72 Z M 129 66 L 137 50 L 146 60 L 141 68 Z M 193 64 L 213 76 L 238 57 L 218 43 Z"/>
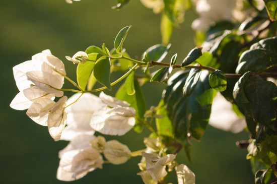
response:
<path fill-rule="evenodd" d="M 173 30 L 172 22 L 163 14 L 161 19 L 162 43 L 168 44 Z"/>

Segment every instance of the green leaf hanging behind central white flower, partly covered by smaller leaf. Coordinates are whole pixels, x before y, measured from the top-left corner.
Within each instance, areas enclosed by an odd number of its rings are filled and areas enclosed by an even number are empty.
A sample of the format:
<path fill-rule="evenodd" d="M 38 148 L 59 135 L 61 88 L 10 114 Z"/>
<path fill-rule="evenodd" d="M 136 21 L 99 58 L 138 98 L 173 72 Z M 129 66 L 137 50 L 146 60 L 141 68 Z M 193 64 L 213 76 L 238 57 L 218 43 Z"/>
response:
<path fill-rule="evenodd" d="M 142 93 L 142 89 L 137 80 L 134 80 L 135 93 L 133 95 L 128 95 L 126 93 L 125 84 L 123 84 L 116 92 L 115 97 L 119 100 L 124 100 L 130 104 L 131 107 L 135 109 L 135 114 L 140 119 L 136 119 L 133 130 L 137 133 L 141 133 L 144 128 L 144 114 L 146 111 L 145 99 Z"/>

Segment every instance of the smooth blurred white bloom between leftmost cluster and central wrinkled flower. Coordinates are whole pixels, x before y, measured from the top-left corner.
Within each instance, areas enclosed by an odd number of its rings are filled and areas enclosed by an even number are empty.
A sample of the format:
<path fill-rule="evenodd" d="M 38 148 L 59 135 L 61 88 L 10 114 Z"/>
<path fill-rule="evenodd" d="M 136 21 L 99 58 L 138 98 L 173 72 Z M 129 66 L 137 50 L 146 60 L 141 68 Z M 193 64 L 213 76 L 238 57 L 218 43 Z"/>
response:
<path fill-rule="evenodd" d="M 67 104 L 76 101 L 81 94 L 75 94 L 68 98 Z M 61 140 L 73 140 L 79 135 L 94 135 L 95 131 L 90 126 L 90 120 L 95 111 L 105 107 L 99 97 L 84 93 L 79 100 L 68 106 L 67 111 L 67 126 L 61 134 Z"/>

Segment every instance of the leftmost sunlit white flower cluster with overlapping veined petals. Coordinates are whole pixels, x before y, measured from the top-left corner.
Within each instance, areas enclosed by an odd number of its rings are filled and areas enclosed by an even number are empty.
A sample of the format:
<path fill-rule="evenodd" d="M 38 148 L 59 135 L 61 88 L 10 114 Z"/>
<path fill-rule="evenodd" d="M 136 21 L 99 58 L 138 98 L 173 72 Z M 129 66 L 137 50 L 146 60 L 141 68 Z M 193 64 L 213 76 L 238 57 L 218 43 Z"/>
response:
<path fill-rule="evenodd" d="M 66 124 L 67 100 L 59 90 L 66 75 L 61 60 L 50 50 L 43 50 L 15 66 L 13 72 L 20 92 L 10 106 L 17 110 L 28 109 L 26 114 L 37 124 L 47 126 L 51 137 L 59 140 Z M 55 102 L 55 97 L 62 98 Z"/>

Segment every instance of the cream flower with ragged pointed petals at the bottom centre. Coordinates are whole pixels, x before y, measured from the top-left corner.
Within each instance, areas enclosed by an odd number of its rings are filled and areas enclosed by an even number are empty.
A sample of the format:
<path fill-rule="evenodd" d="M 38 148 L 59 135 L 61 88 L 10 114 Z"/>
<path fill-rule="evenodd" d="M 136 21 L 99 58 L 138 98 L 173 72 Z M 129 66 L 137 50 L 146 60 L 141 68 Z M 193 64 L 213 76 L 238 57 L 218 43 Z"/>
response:
<path fill-rule="evenodd" d="M 154 181 L 161 179 L 167 175 L 166 165 L 175 159 L 175 155 L 168 154 L 159 157 L 156 153 L 142 153 L 143 157 L 146 159 L 146 170 L 149 172 Z"/>

